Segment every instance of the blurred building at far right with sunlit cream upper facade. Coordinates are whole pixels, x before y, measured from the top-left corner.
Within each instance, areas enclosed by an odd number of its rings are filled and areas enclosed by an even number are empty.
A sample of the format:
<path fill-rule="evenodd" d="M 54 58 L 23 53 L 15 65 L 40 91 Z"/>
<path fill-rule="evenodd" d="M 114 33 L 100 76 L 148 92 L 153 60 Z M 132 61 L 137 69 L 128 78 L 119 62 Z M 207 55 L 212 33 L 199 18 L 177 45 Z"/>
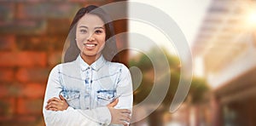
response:
<path fill-rule="evenodd" d="M 192 49 L 212 87 L 212 125 L 256 125 L 256 1 L 212 0 Z"/>

